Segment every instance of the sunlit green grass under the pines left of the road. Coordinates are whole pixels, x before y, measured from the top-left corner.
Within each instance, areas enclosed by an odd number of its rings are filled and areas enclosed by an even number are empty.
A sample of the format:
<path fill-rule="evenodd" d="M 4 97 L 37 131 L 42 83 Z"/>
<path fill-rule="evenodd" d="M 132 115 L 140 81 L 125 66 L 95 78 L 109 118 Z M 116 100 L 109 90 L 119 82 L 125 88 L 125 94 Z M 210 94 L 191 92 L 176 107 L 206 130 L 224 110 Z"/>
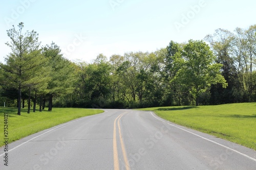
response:
<path fill-rule="evenodd" d="M 10 143 L 70 120 L 102 112 L 102 110 L 92 109 L 53 108 L 51 112 L 36 110 L 36 112 L 32 111 L 28 114 L 27 109 L 22 109 L 19 116 L 16 108 L 0 107 L 0 147 L 4 145 L 4 113 L 8 113 L 8 138 Z"/>

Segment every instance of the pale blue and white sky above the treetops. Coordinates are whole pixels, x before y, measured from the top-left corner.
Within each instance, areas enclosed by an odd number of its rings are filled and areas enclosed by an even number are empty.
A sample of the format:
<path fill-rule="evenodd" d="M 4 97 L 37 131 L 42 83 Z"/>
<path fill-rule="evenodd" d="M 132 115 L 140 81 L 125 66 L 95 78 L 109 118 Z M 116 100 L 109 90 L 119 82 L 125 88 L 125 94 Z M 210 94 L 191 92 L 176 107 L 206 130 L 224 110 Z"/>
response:
<path fill-rule="evenodd" d="M 0 62 L 11 53 L 6 31 L 19 22 L 42 46 L 55 42 L 69 60 L 91 62 L 201 40 L 219 28 L 247 29 L 255 7 L 254 0 L 0 0 Z"/>

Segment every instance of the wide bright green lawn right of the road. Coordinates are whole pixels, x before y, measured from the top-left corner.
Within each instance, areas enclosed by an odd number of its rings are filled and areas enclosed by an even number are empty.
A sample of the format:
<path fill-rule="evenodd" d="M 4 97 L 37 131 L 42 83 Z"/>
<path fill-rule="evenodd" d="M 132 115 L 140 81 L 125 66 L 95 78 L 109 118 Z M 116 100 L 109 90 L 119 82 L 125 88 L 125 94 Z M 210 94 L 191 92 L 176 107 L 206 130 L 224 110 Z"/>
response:
<path fill-rule="evenodd" d="M 139 110 L 154 111 L 158 116 L 170 122 L 256 150 L 256 103 L 158 107 Z"/>

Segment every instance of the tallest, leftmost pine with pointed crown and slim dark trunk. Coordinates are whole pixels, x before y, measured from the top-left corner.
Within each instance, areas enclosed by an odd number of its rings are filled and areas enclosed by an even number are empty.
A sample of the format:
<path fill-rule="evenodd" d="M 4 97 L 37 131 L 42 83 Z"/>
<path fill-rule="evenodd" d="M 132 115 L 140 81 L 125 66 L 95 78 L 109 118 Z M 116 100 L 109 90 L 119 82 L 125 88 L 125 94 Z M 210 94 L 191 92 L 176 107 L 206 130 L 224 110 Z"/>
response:
<path fill-rule="evenodd" d="M 11 39 L 6 44 L 12 53 L 5 58 L 6 64 L 1 63 L 6 83 L 18 89 L 18 112 L 20 115 L 22 89 L 28 87 L 32 78 L 35 77 L 35 68 L 40 65 L 38 34 L 33 30 L 23 33 L 24 23 L 20 22 L 18 30 L 13 26 L 7 31 Z"/>

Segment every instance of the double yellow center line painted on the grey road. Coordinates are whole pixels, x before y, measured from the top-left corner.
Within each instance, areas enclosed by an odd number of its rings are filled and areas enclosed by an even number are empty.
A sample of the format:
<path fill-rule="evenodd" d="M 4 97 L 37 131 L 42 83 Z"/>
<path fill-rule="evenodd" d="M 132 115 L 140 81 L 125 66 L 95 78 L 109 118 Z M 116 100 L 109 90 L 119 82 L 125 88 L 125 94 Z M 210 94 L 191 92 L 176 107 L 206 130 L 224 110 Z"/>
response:
<path fill-rule="evenodd" d="M 120 139 L 120 143 L 121 143 L 121 149 L 122 149 L 122 153 L 123 153 L 125 168 L 126 168 L 126 170 L 130 170 L 129 161 L 127 159 L 127 155 L 126 155 L 126 151 L 125 151 L 125 147 L 124 147 L 124 142 L 123 142 L 123 138 L 122 138 L 122 134 L 121 134 L 121 128 L 120 128 L 120 118 L 125 113 L 128 113 L 128 112 L 124 112 L 124 113 L 120 114 L 115 119 L 115 122 L 114 122 L 114 132 L 113 132 L 114 170 L 119 170 L 119 159 L 118 159 L 117 138 L 116 138 L 116 121 L 117 121 L 117 125 L 118 125 L 119 139 Z"/>

